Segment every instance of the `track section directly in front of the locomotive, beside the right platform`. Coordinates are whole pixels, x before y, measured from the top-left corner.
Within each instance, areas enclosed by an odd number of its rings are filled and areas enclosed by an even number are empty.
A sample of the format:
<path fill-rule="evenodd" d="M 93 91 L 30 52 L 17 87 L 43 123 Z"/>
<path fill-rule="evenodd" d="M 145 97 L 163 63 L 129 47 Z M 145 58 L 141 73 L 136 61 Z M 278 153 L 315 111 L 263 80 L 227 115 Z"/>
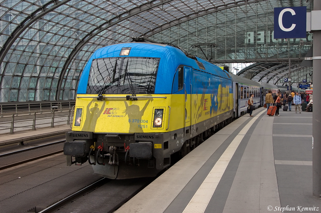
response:
<path fill-rule="evenodd" d="M 37 213 L 111 213 L 155 178 L 111 180 L 102 178 Z M 93 202 L 94 201 L 94 202 Z"/>

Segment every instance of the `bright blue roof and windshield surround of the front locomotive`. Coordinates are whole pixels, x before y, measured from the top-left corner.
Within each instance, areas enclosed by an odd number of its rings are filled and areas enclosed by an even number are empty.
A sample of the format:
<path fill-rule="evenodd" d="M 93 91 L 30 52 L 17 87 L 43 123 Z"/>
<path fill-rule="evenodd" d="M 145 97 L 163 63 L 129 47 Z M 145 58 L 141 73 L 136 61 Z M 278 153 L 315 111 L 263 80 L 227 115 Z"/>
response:
<path fill-rule="evenodd" d="M 119 56 L 120 51 L 123 47 L 131 47 L 128 56 Z M 181 64 L 191 66 L 194 69 L 200 70 L 196 61 L 188 58 L 178 48 L 155 44 L 155 43 L 121 43 L 115 44 L 108 47 L 102 47 L 95 51 L 88 63 L 86 64 L 78 85 L 78 94 L 85 94 L 88 83 L 88 76 L 91 67 L 91 62 L 96 58 L 106 57 L 154 57 L 160 58 L 160 64 L 157 71 L 155 94 L 170 94 L 172 89 L 172 83 L 175 71 Z M 222 71 L 219 67 L 214 64 L 205 62 L 204 60 L 197 58 L 198 61 L 202 62 L 205 71 L 211 74 L 227 78 L 225 71 Z M 214 68 L 214 69 L 213 69 Z"/>

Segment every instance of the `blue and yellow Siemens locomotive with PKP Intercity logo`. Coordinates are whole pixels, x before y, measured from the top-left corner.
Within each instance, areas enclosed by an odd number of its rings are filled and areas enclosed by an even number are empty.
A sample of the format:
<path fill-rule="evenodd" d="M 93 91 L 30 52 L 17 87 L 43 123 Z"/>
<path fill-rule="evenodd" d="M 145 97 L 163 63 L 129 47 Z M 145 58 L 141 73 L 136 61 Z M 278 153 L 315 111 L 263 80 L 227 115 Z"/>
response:
<path fill-rule="evenodd" d="M 233 83 L 230 73 L 169 45 L 100 48 L 79 81 L 67 164 L 89 160 L 111 179 L 155 176 L 232 121 Z"/>

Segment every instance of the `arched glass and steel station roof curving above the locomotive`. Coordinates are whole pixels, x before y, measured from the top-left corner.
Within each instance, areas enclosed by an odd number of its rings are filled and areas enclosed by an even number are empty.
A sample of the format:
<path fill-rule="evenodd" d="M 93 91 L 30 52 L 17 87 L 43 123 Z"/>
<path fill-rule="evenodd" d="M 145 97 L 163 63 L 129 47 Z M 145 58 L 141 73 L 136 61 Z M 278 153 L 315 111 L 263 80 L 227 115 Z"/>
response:
<path fill-rule="evenodd" d="M 216 61 L 299 57 L 301 48 L 278 49 L 284 41 L 277 41 L 277 48 L 262 50 L 264 54 L 259 53 L 258 48 L 264 48 L 257 39 L 244 42 L 252 38 L 245 36 L 248 30 L 257 37 L 258 31 L 270 29 L 271 8 L 296 4 L 276 0 L 2 1 L 0 102 L 74 99 L 82 69 L 95 50 L 142 34 L 202 58 L 199 49 L 191 48 L 193 44 L 217 44 L 220 49 L 210 57 Z M 310 3 L 302 4 L 311 10 Z M 287 46 L 296 45 L 292 43 Z"/>

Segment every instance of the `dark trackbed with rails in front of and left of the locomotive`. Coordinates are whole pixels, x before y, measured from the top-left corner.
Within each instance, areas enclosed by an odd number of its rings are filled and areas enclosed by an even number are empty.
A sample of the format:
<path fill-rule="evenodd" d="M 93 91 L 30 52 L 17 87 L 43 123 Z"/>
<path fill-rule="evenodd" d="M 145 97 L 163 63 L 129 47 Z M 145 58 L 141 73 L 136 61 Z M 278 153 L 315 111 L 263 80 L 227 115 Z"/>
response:
<path fill-rule="evenodd" d="M 65 156 L 54 155 L 63 142 L 0 155 L 0 213 L 113 212 L 155 179 L 110 180 L 92 174 L 88 162 L 66 166 Z"/>

